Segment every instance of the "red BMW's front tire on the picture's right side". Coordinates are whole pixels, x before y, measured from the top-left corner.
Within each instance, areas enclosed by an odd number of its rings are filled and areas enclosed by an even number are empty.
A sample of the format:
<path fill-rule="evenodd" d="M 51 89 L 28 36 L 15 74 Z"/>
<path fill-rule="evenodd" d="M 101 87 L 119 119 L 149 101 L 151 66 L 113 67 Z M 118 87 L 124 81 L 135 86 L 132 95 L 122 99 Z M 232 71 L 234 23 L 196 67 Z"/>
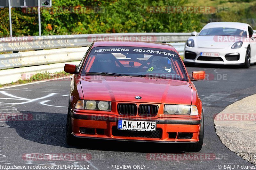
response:
<path fill-rule="evenodd" d="M 203 110 L 202 110 L 202 122 L 201 122 L 201 126 L 200 126 L 200 131 L 199 131 L 199 142 L 196 144 L 187 144 L 186 151 L 188 151 L 188 152 L 200 151 L 203 147 L 203 142 L 204 142 L 204 114 L 203 114 Z"/>

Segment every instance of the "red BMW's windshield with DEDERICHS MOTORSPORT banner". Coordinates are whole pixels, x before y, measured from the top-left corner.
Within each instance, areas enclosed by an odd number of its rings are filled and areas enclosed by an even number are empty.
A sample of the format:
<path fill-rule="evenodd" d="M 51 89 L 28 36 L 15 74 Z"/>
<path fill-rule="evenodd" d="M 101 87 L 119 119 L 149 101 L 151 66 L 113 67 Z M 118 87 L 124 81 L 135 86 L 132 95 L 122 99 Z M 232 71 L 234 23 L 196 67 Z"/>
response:
<path fill-rule="evenodd" d="M 179 55 L 171 50 L 145 47 L 94 47 L 83 75 L 123 75 L 188 81 Z"/>

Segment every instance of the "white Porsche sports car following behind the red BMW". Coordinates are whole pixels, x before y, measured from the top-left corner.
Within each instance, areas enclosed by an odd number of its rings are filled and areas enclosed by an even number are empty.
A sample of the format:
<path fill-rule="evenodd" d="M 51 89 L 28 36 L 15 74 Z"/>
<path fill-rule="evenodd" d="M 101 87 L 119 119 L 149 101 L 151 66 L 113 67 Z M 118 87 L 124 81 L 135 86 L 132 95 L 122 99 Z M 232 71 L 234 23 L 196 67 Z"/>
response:
<path fill-rule="evenodd" d="M 238 22 L 211 22 L 192 32 L 184 49 L 184 63 L 226 64 L 249 68 L 256 63 L 256 34 Z"/>

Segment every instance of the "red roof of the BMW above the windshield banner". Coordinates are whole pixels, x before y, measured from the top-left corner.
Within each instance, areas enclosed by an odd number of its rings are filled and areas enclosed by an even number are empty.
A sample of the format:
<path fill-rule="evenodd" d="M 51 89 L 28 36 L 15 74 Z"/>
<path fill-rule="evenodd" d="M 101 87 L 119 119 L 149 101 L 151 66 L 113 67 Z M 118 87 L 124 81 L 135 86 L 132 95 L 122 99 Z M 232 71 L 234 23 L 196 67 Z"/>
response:
<path fill-rule="evenodd" d="M 148 48 L 160 48 L 175 51 L 177 50 L 169 44 L 157 43 L 157 42 L 147 42 L 147 41 L 93 41 L 92 47 L 100 46 L 130 46 L 130 47 L 148 47 Z"/>

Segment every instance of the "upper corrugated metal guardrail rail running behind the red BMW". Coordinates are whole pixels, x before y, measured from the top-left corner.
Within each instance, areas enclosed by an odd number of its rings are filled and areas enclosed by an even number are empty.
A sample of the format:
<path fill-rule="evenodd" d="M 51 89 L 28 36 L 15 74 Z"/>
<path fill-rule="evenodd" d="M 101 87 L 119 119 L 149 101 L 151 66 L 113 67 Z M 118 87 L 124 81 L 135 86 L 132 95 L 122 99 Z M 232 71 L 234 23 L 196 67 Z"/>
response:
<path fill-rule="evenodd" d="M 87 47 L 94 40 L 184 42 L 191 33 L 105 33 L 0 38 L 0 52 Z"/>

